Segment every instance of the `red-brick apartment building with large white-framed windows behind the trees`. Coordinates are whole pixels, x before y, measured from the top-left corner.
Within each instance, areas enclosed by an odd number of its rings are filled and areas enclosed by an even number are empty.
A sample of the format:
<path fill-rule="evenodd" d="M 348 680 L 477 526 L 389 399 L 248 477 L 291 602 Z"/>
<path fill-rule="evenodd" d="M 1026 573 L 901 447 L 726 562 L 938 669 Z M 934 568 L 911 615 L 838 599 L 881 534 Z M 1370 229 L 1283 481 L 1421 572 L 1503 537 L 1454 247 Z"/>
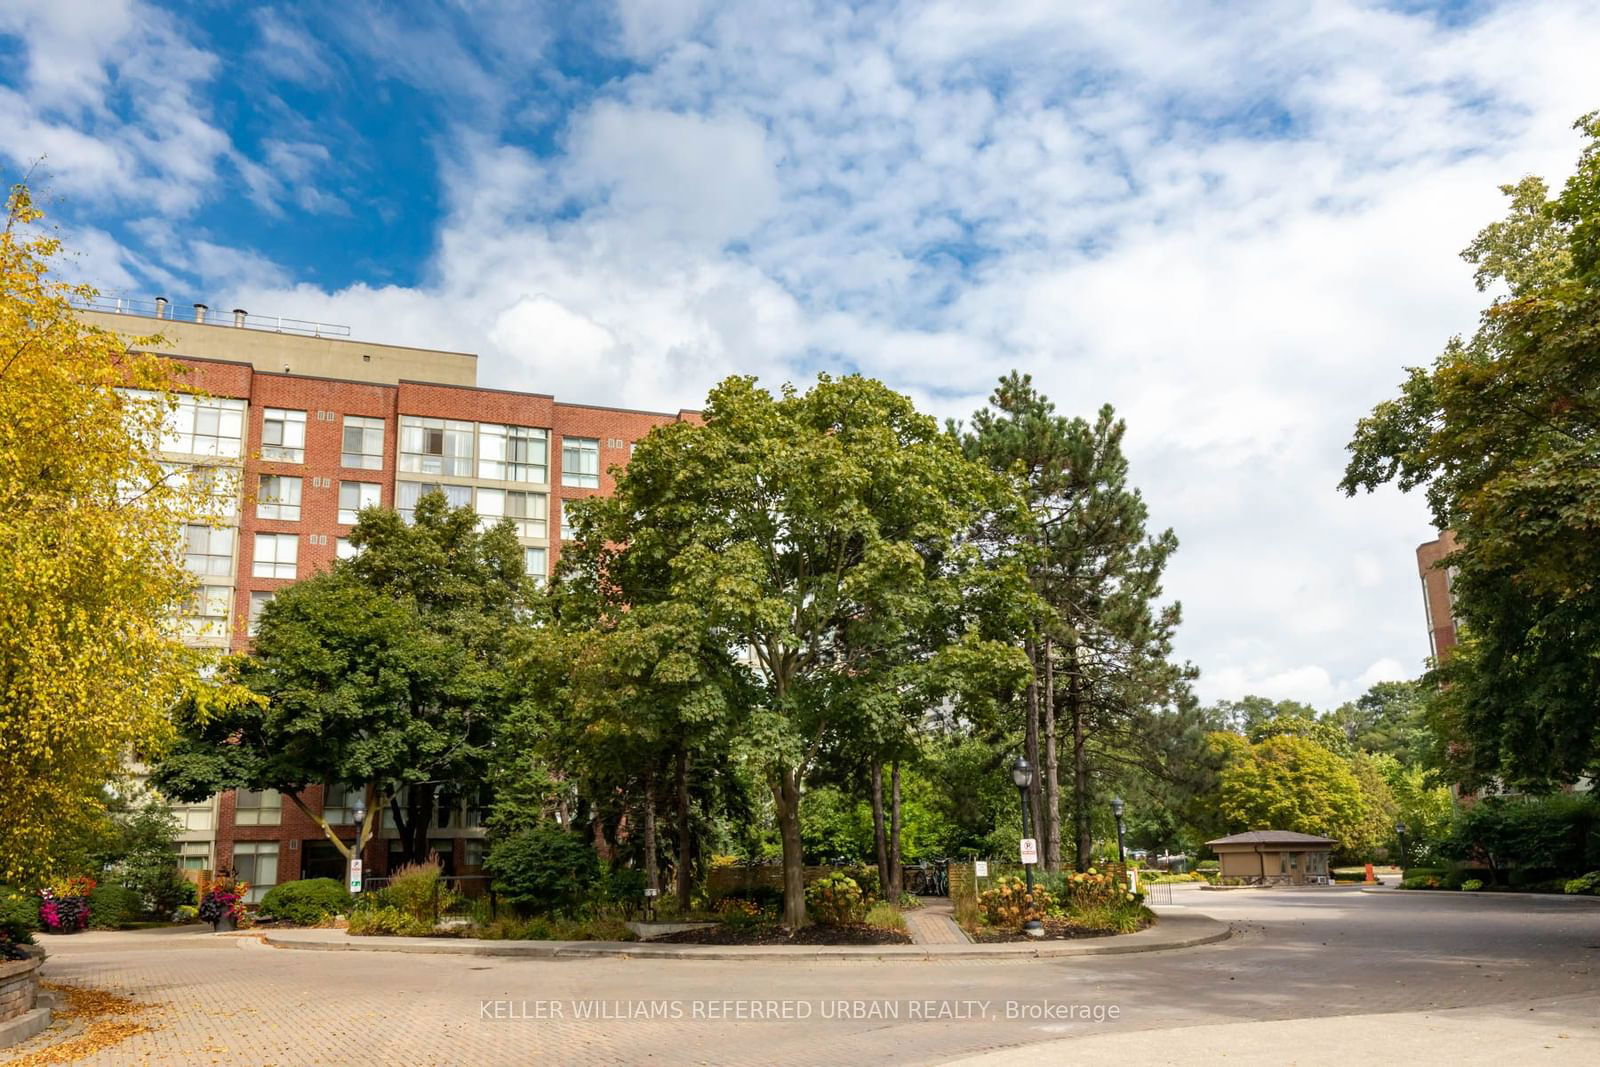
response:
<path fill-rule="evenodd" d="M 202 582 L 184 617 L 197 645 L 248 648 L 280 589 L 352 550 L 362 507 L 405 515 L 434 490 L 485 523 L 510 518 L 528 573 L 544 577 L 568 531 L 566 504 L 610 493 L 610 469 L 653 427 L 696 418 L 483 389 L 470 354 L 355 341 L 325 323 L 245 310 L 213 318 L 202 304 L 176 317 L 162 299 L 98 301 L 83 318 L 130 342 L 162 334 L 166 344 L 152 350 L 200 390 L 182 398 L 163 442 L 163 459 L 208 485 L 222 515 L 184 531 Z M 302 795 L 346 840 L 357 798 L 336 784 Z M 344 877 L 320 827 L 270 790 L 174 811 L 181 862 L 237 870 L 253 899 L 294 878 Z M 370 872 L 387 870 L 392 838 L 386 817 L 365 856 Z M 470 798 L 442 800 L 430 840 L 450 872 L 470 873 L 483 857 L 482 811 Z"/>

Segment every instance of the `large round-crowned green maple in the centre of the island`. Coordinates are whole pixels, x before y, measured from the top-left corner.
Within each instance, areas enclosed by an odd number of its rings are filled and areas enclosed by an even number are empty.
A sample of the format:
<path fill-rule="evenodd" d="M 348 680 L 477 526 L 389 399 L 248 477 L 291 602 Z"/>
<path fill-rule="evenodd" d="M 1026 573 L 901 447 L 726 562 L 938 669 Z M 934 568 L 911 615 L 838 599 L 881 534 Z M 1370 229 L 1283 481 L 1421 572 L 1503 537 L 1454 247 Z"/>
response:
<path fill-rule="evenodd" d="M 904 713 L 901 696 L 944 648 L 926 643 L 936 617 L 950 645 L 970 641 L 960 605 L 976 553 L 958 536 L 1005 493 L 866 378 L 779 397 L 730 378 L 704 419 L 654 430 L 614 498 L 590 504 L 606 545 L 597 576 L 622 603 L 674 605 L 746 656 L 741 753 L 773 795 L 784 918 L 800 926 L 806 777 L 826 744 L 875 721 L 886 734 L 882 720 Z"/>

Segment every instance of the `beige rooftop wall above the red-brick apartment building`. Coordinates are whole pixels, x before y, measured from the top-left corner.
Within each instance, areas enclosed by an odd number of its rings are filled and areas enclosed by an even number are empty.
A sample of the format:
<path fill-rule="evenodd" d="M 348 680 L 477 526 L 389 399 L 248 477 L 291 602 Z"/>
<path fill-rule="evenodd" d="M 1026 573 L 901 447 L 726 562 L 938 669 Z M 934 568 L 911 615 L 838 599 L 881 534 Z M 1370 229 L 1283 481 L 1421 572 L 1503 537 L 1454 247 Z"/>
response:
<path fill-rule="evenodd" d="M 250 363 L 258 371 L 386 386 L 400 381 L 477 386 L 478 381 L 478 360 L 466 352 L 408 349 L 347 338 L 307 338 L 294 333 L 226 325 L 232 322 L 226 317 L 222 323 L 213 325 L 112 312 L 85 310 L 78 314 L 83 322 L 120 333 L 125 338 L 162 334 L 168 344 L 150 346 L 152 352 Z"/>

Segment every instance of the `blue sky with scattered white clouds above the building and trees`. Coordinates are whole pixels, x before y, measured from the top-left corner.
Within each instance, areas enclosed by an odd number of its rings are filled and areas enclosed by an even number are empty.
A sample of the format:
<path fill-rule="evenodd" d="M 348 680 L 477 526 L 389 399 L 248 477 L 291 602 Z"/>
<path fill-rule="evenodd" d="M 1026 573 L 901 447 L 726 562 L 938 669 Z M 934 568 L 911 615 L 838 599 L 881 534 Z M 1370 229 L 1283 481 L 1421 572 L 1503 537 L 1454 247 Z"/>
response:
<path fill-rule="evenodd" d="M 1333 486 L 1470 330 L 1458 251 L 1558 179 L 1600 18 L 1504 3 L 0 5 L 0 170 L 107 291 L 677 410 L 1029 370 L 1117 405 L 1211 699 L 1426 654 L 1421 502 Z"/>

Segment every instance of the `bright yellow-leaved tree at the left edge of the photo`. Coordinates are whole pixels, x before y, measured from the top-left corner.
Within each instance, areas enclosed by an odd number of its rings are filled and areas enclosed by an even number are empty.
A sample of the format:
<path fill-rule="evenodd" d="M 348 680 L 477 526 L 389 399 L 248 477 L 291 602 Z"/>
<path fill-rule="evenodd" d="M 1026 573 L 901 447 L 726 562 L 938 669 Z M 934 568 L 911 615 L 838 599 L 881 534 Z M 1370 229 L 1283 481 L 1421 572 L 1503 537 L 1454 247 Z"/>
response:
<path fill-rule="evenodd" d="M 50 277 L 61 248 L 38 218 L 14 187 L 0 235 L 0 881 L 19 885 L 70 867 L 104 787 L 203 685 L 176 617 L 197 584 L 178 531 L 205 504 L 157 454 L 181 382 L 74 315 L 93 291 Z"/>

